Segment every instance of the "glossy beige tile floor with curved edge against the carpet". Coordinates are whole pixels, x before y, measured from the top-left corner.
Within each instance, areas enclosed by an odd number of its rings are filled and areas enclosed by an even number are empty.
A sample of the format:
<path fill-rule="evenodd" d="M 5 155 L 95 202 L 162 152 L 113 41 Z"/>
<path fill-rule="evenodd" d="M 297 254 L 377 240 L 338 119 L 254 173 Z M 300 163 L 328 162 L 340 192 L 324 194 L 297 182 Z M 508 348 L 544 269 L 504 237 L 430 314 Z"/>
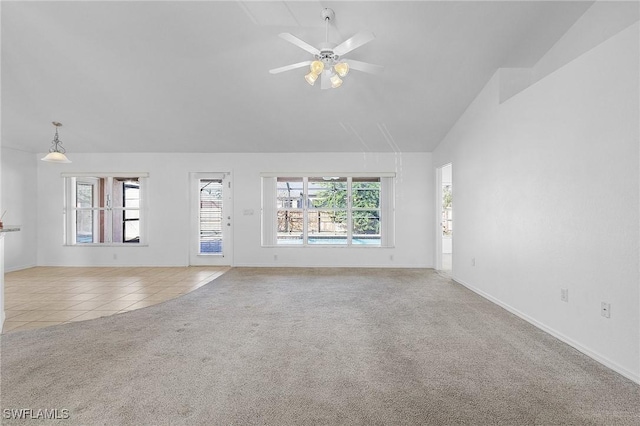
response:
<path fill-rule="evenodd" d="M 229 267 L 36 267 L 4 276 L 3 333 L 83 321 L 189 293 Z"/>

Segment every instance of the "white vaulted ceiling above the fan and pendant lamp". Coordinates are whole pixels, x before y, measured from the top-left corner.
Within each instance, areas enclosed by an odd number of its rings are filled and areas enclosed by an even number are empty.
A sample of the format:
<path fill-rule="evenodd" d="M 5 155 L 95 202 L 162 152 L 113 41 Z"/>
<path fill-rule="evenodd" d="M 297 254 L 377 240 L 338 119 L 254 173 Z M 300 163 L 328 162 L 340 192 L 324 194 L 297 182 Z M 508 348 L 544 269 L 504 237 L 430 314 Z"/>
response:
<path fill-rule="evenodd" d="M 3 1 L 2 145 L 45 152 L 432 151 L 500 67 L 529 67 L 592 2 Z M 318 45 L 385 66 L 320 90 Z"/>

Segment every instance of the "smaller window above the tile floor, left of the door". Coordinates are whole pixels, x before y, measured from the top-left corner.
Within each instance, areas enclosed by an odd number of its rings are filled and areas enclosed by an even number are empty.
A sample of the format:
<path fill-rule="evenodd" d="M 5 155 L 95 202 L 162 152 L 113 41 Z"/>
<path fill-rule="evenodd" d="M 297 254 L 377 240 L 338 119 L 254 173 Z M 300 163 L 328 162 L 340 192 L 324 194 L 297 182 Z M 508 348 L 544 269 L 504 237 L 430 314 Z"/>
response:
<path fill-rule="evenodd" d="M 141 242 L 146 175 L 63 176 L 67 245 Z"/>

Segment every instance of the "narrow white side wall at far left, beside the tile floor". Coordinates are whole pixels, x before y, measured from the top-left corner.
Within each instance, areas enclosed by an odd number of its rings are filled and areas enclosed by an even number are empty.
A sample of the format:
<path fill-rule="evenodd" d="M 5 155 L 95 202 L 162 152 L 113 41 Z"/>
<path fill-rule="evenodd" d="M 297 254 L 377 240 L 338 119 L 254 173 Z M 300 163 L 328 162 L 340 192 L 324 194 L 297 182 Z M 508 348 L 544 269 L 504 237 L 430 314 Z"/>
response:
<path fill-rule="evenodd" d="M 37 161 L 33 153 L 2 148 L 3 222 L 20 225 L 20 232 L 5 237 L 5 271 L 36 266 Z"/>

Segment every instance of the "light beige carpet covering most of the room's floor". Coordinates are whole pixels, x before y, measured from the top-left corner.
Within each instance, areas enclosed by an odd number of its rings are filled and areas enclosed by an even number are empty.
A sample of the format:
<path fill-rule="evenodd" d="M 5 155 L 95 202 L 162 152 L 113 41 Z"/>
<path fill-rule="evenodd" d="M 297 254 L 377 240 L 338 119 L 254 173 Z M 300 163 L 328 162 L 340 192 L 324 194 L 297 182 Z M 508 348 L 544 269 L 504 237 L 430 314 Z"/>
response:
<path fill-rule="evenodd" d="M 1 356 L 46 424 L 640 424 L 640 386 L 431 270 L 235 268 Z"/>

